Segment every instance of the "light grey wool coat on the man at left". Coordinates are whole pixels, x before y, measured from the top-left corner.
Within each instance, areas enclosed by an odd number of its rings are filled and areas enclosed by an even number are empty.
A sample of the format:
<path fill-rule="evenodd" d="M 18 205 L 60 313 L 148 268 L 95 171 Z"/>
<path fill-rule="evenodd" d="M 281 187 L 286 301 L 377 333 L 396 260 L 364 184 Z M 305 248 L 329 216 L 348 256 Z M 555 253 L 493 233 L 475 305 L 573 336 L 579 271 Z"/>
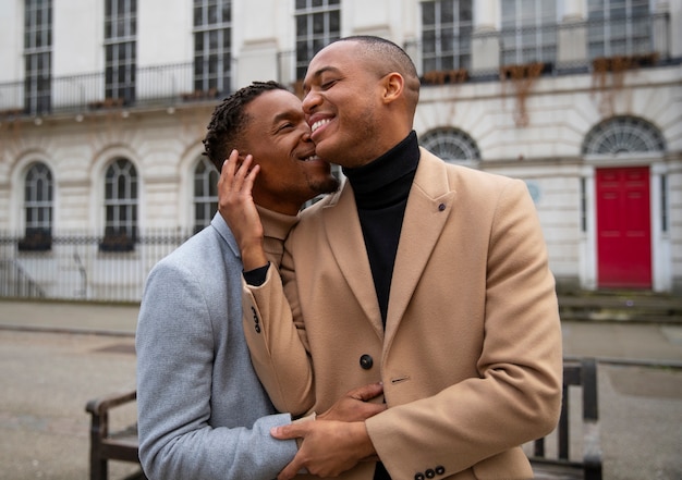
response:
<path fill-rule="evenodd" d="M 139 458 L 150 480 L 267 480 L 296 443 L 258 381 L 242 330 L 242 261 L 216 214 L 149 273 L 137 324 Z"/>

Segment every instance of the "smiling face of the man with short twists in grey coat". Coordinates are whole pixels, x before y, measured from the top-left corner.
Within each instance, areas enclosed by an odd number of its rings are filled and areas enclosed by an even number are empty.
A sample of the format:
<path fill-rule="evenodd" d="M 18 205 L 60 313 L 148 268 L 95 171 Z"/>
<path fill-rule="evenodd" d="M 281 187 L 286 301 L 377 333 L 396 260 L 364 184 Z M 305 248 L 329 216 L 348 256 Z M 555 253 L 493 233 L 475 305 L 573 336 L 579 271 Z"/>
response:
<path fill-rule="evenodd" d="M 318 194 L 334 192 L 329 163 L 315 155 L 301 100 L 288 90 L 259 95 L 245 108 L 248 116 L 240 153 L 254 157 L 260 172 L 254 201 L 269 210 L 293 214 Z"/>

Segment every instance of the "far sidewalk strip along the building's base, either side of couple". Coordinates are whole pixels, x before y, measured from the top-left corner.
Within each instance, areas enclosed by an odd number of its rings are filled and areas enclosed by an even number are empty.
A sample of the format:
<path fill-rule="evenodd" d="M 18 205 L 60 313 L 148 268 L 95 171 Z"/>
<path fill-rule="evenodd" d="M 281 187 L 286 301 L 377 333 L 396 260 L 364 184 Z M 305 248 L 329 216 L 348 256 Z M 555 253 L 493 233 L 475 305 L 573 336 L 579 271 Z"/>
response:
<path fill-rule="evenodd" d="M 134 336 L 139 306 L 0 300 L 0 329 Z M 563 354 L 682 368 L 682 323 L 564 320 Z"/>

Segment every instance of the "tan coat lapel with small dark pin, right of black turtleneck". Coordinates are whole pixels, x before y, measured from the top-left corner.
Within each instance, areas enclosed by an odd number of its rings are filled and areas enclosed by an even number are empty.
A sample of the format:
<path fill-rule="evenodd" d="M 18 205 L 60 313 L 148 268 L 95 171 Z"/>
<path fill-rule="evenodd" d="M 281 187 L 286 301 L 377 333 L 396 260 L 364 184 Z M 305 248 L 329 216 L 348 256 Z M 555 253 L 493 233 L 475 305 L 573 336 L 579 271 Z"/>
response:
<path fill-rule="evenodd" d="M 424 149 L 421 153 L 393 267 L 385 348 L 400 324 L 454 206 L 455 192 L 448 186 L 446 163 Z"/>

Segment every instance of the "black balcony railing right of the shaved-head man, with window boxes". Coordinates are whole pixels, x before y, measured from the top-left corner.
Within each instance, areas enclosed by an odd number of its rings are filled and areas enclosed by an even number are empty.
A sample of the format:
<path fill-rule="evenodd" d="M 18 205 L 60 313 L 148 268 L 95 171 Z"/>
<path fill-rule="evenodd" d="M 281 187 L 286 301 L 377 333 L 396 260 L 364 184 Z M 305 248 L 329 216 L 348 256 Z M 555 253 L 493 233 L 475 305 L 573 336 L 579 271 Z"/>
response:
<path fill-rule="evenodd" d="M 513 65 L 543 64 L 543 75 L 590 73 L 605 59 L 637 67 L 678 63 L 670 53 L 669 24 L 667 13 L 657 13 L 475 32 L 447 42 L 419 38 L 404 48 L 426 85 L 496 81 Z"/>

